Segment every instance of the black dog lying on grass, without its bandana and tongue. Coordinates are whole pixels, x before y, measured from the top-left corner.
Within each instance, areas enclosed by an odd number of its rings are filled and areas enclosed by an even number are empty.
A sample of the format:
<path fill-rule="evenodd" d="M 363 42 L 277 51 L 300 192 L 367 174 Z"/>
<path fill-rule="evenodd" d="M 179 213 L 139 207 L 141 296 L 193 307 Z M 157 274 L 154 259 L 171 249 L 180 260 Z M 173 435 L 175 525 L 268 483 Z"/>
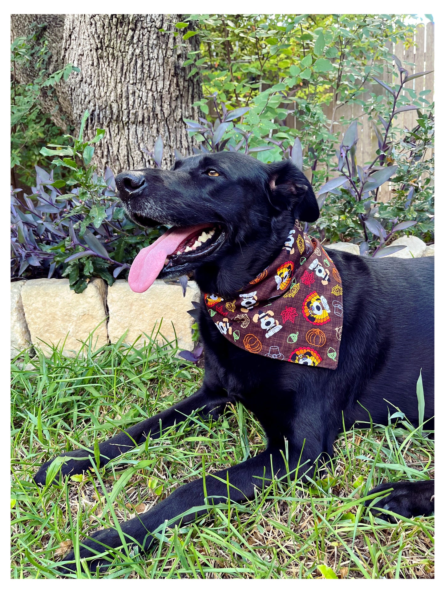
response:
<path fill-rule="evenodd" d="M 209 294 L 236 294 L 275 259 L 295 218 L 313 222 L 319 216 L 309 182 L 290 161 L 265 165 L 238 153 L 220 152 L 186 158 L 171 171 L 121 173 L 116 183 L 126 212 L 142 225 L 214 229 L 201 247 L 167 257 L 159 274 L 167 278 L 193 272 L 201 291 Z M 434 259 L 371 259 L 338 251 L 329 251 L 329 256 L 344 287 L 343 333 L 335 371 L 288 364 L 234 346 L 218 331 L 201 301 L 204 384 L 166 412 L 101 444 L 101 463 L 150 435 L 157 436 L 160 421 L 165 428 L 200 409 L 218 416 L 225 404 L 240 401 L 258 417 L 268 447 L 244 463 L 206 476 L 205 486 L 209 501 L 224 502 L 228 471 L 230 498 L 241 502 L 253 498 L 255 486 L 261 488 L 264 480 L 271 479 L 271 458 L 274 474 L 286 473 L 285 441 L 288 467 L 299 466 L 301 476 L 309 468 L 313 471 L 316 460 L 332 454 L 343 420 L 347 429 L 354 423 L 368 423 L 370 416 L 374 423 L 387 423 L 390 401 L 417 425 L 416 382 L 421 368 L 425 419 L 431 419 Z M 432 428 L 430 421 L 425 429 Z M 85 451 L 65 455 L 75 459 L 66 461 L 62 475 L 90 467 Z M 40 468 L 37 483 L 45 483 L 49 464 Z M 389 487 L 393 490 L 382 501 L 385 509 L 405 517 L 433 512 L 433 480 L 380 484 L 373 492 Z M 126 541 L 147 549 L 159 525 L 204 505 L 204 498 L 202 480 L 184 484 L 150 511 L 122 524 Z M 186 515 L 182 521 L 195 516 Z M 114 529 L 98 531 L 85 542 L 99 552 L 120 545 Z M 80 554 L 94 555 L 83 547 Z M 74 560 L 74 553 L 66 560 Z M 91 568 L 97 563 L 91 561 Z M 74 564 L 70 566 L 74 569 Z"/>

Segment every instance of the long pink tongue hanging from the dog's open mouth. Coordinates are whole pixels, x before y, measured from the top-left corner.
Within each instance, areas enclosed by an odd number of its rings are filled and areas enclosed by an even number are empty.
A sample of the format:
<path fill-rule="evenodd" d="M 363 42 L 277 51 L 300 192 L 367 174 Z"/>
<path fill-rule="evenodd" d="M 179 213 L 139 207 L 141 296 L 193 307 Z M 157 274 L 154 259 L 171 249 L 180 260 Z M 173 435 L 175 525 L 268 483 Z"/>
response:
<path fill-rule="evenodd" d="M 139 251 L 131 264 L 128 284 L 133 292 L 145 292 L 164 267 L 166 257 L 174 253 L 182 241 L 209 225 L 174 228 L 164 232 L 154 243 Z"/>

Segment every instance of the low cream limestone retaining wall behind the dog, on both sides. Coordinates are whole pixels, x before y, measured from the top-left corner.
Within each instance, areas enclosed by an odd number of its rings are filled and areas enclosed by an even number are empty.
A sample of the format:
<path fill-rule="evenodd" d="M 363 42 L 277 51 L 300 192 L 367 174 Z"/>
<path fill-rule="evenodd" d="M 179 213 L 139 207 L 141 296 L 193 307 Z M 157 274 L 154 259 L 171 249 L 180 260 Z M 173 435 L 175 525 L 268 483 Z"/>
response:
<path fill-rule="evenodd" d="M 417 237 L 401 237 L 393 245 L 406 245 L 392 256 L 434 256 L 434 245 Z M 335 243 L 330 249 L 358 254 L 358 245 Z M 126 280 L 107 286 L 94 278 L 81 294 L 69 288 L 68 280 L 39 279 L 11 282 L 11 358 L 30 345 L 46 353 L 52 346 L 75 356 L 91 341 L 93 349 L 116 343 L 126 332 L 124 343 L 141 346 L 148 336 L 159 343 L 175 339 L 182 350 L 192 350 L 193 319 L 187 313 L 191 301 L 199 301 L 199 289 L 189 282 L 186 296 L 179 285 L 155 280 L 148 291 L 133 292 Z M 162 323 L 161 323 L 162 320 Z M 139 337 L 140 336 L 140 337 Z"/>

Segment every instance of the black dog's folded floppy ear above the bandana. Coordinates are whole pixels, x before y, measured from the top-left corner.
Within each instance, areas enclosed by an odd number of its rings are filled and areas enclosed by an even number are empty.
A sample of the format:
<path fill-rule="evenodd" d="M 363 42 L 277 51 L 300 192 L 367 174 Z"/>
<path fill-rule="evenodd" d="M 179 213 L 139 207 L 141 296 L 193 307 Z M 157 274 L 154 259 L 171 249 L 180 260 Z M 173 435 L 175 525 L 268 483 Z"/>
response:
<path fill-rule="evenodd" d="M 298 220 L 314 222 L 320 210 L 306 176 L 291 160 L 268 165 L 271 203 L 280 210 L 291 210 Z"/>

